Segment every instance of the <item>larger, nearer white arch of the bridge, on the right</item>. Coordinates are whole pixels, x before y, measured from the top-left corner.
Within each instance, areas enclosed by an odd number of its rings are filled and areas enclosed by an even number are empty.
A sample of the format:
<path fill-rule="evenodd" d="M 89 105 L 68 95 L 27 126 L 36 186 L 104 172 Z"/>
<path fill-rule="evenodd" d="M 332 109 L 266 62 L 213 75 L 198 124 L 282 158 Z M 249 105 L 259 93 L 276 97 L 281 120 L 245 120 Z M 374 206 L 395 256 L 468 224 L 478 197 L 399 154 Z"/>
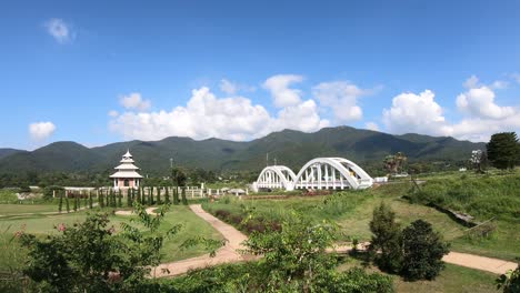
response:
<path fill-rule="evenodd" d="M 367 189 L 372 178 L 343 158 L 317 158 L 307 162 L 293 181 L 294 189 Z"/>

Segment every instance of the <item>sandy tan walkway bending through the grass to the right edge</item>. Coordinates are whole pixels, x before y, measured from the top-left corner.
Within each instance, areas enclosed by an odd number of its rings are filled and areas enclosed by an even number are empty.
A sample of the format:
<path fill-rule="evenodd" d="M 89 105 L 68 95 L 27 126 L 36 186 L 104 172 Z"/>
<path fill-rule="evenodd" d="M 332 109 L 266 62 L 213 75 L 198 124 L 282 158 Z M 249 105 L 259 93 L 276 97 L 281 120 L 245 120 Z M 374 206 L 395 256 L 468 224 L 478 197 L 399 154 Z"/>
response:
<path fill-rule="evenodd" d="M 147 212 L 152 213 L 152 211 L 157 208 L 148 208 Z M 162 276 L 174 276 L 187 273 L 189 270 L 193 269 L 203 269 L 211 265 L 222 264 L 222 263 L 231 263 L 231 262 L 240 262 L 253 259 L 250 255 L 242 255 L 238 252 L 238 250 L 243 250 L 244 246 L 242 242 L 246 241 L 248 238 L 242 234 L 242 232 L 238 231 L 230 224 L 227 224 L 219 219 L 214 218 L 210 213 L 202 210 L 200 204 L 192 204 L 190 209 L 204 221 L 211 224 L 213 229 L 219 231 L 223 238 L 226 239 L 226 245 L 222 246 L 217 251 L 217 255 L 211 257 L 209 254 L 204 254 L 202 256 L 192 257 L 188 260 L 163 263 L 153 269 L 153 275 L 158 277 Z M 131 211 L 119 211 L 117 214 L 131 214 Z M 369 243 L 360 243 L 361 250 L 366 249 Z M 350 245 L 339 245 L 328 251 L 336 251 L 338 253 L 347 253 L 352 249 Z M 444 255 L 442 259 L 447 263 L 457 264 L 460 266 L 466 266 L 470 269 L 481 270 L 494 274 L 503 274 L 508 270 L 514 270 L 517 267 L 517 263 L 508 262 L 499 259 L 491 259 L 474 254 L 461 253 L 461 252 L 450 252 L 449 254 Z"/>

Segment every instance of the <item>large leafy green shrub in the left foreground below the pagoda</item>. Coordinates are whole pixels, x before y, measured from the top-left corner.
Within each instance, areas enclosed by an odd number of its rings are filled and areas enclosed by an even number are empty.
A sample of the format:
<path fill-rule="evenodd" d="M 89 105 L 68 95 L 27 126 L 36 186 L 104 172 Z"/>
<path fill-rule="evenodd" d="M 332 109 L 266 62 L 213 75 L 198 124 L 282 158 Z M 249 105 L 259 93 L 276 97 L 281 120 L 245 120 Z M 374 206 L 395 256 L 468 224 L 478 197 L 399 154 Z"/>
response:
<path fill-rule="evenodd" d="M 164 239 L 180 229 L 173 225 L 158 232 L 168 209 L 161 206 L 158 215 L 149 215 L 142 205 L 136 206 L 136 222 L 149 233 L 123 222 L 122 232 L 116 234 L 107 214 L 89 215 L 72 226 L 60 224 L 61 233 L 47 239 L 23 233 L 20 240 L 29 250 L 23 272 L 43 292 L 138 292 L 148 282 L 150 266 L 160 263 Z"/>

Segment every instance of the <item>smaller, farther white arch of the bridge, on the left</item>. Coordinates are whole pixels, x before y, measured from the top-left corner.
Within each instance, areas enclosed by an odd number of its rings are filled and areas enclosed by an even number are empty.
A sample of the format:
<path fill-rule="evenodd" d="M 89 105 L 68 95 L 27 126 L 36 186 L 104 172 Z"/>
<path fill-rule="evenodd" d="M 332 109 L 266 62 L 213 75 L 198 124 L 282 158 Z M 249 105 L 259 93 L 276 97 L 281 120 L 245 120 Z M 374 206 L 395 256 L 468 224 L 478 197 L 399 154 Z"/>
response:
<path fill-rule="evenodd" d="M 257 179 L 257 189 L 286 189 L 293 190 L 296 174 L 284 165 L 268 165 Z"/>

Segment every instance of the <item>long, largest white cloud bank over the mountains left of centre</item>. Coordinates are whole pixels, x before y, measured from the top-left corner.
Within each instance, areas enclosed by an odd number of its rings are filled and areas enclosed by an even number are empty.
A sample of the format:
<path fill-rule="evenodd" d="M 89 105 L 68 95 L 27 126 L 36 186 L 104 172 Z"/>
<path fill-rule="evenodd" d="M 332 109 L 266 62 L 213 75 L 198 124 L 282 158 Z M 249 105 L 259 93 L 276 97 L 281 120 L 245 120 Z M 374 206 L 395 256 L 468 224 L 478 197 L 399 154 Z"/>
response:
<path fill-rule="evenodd" d="M 171 111 L 127 111 L 109 128 L 126 139 L 159 140 L 170 135 L 193 139 L 248 140 L 286 128 L 316 131 L 328 125 L 312 100 L 281 109 L 272 117 L 262 105 L 242 97 L 217 98 L 208 88 L 192 91 L 186 107 Z"/>

